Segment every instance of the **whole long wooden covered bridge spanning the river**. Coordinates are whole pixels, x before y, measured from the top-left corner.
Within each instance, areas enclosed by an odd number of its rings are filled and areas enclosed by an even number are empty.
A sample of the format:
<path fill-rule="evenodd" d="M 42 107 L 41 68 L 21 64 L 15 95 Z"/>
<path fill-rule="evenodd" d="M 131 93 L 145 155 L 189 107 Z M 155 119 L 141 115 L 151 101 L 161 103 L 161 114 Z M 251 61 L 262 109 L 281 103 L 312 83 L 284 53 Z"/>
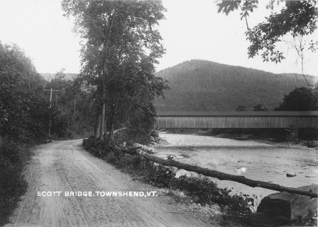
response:
<path fill-rule="evenodd" d="M 315 126 L 318 111 L 159 111 L 155 127 L 281 128 L 296 134 L 299 128 Z"/>

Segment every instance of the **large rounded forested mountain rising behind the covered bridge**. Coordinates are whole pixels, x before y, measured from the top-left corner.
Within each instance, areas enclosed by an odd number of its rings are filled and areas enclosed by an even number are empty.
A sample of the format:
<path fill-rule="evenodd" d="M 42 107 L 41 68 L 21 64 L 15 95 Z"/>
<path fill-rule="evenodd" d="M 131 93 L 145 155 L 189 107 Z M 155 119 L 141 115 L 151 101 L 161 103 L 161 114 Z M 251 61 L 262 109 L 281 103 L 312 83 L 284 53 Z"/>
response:
<path fill-rule="evenodd" d="M 309 88 L 302 75 L 274 74 L 205 60 L 186 61 L 156 76 L 168 80 L 171 88 L 165 92 L 166 99 L 156 99 L 157 111 L 235 111 L 239 105 L 253 110 L 259 103 L 273 110 L 296 87 Z"/>

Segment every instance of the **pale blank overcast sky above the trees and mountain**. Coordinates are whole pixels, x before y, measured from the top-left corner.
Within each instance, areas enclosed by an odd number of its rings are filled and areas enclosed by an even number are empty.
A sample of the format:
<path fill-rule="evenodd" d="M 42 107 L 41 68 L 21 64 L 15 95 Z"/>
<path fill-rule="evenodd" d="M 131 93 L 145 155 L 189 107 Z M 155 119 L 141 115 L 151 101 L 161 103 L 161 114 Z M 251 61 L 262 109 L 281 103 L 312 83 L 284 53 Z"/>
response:
<path fill-rule="evenodd" d="M 248 18 L 249 27 L 263 21 L 270 14 L 269 1 L 260 1 L 259 9 Z M 80 70 L 79 37 L 72 33 L 73 22 L 63 17 L 58 0 L 0 0 L 0 40 L 17 43 L 24 49 L 40 73 L 56 73 L 65 68 L 68 73 Z M 287 46 L 282 63 L 263 63 L 261 57 L 248 59 L 244 32 L 245 21 L 239 12 L 229 16 L 217 13 L 213 0 L 165 0 L 166 20 L 158 30 L 163 38 L 166 54 L 159 59 L 157 71 L 191 59 L 204 59 L 229 65 L 239 65 L 274 73 L 301 72 L 300 60 Z M 318 40 L 317 31 L 310 39 Z M 280 44 L 278 45 L 280 46 Z M 304 69 L 318 76 L 317 53 L 306 51 Z"/>

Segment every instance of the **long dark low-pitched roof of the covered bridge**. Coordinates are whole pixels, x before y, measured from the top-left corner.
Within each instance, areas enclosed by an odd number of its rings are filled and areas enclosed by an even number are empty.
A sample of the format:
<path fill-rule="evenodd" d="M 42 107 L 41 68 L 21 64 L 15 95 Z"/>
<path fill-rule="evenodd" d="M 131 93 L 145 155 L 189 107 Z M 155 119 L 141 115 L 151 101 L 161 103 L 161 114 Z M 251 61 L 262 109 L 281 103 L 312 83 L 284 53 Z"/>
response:
<path fill-rule="evenodd" d="M 158 111 L 157 116 L 318 116 L 318 111 Z"/>

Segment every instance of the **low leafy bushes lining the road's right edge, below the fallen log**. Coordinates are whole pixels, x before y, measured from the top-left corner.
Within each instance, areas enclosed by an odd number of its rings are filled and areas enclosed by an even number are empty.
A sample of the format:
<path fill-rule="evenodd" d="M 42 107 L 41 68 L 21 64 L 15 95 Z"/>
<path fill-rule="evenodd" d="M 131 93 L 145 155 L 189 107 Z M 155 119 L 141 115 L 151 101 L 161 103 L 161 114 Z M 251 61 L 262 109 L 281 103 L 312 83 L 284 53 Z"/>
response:
<path fill-rule="evenodd" d="M 114 141 L 109 139 L 100 141 L 94 136 L 83 140 L 83 146 L 89 152 L 97 157 L 121 165 L 123 162 L 121 160 L 123 151 L 116 147 L 115 144 Z M 251 207 L 254 206 L 255 196 L 245 194 L 231 196 L 229 195 L 231 190 L 218 188 L 217 184 L 207 177 L 188 178 L 182 176 L 176 178 L 172 167 L 155 164 L 140 155 L 137 155 L 130 164 L 125 162 L 126 168 L 128 165 L 138 170 L 138 173 L 142 174 L 146 182 L 158 187 L 169 187 L 185 191 L 197 203 L 228 205 L 232 210 L 240 213 L 251 213 Z"/>

